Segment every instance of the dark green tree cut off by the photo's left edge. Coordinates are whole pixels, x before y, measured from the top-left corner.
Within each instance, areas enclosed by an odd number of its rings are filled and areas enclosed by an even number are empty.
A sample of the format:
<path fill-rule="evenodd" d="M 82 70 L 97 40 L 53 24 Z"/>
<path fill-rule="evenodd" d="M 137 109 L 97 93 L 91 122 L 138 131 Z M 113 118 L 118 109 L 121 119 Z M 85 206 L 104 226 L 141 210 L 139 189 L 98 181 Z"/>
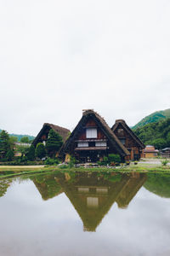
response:
<path fill-rule="evenodd" d="M 9 135 L 7 131 L 0 133 L 0 158 L 3 158 L 10 149 Z"/>

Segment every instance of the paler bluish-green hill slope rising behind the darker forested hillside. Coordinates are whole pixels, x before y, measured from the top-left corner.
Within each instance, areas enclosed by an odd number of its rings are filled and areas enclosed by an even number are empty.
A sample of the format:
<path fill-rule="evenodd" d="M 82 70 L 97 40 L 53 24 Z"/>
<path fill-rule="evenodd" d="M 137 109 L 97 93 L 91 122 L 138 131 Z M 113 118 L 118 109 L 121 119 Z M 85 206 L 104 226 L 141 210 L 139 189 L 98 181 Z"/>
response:
<path fill-rule="evenodd" d="M 151 113 L 150 115 L 146 116 L 144 119 L 139 121 L 138 124 L 133 126 L 133 129 L 137 129 L 139 127 L 142 127 L 144 125 L 154 123 L 163 119 L 170 118 L 170 108 L 166 110 L 156 111 L 154 113 Z"/>

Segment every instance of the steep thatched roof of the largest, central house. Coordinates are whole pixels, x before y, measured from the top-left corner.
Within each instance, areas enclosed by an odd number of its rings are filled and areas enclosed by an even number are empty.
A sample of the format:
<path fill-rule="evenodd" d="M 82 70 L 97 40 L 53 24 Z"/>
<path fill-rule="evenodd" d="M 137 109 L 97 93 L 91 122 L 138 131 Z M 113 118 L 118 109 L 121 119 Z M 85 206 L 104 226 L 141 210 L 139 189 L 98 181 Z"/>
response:
<path fill-rule="evenodd" d="M 120 140 L 116 137 L 113 131 L 107 123 L 105 119 L 103 119 L 99 113 L 94 112 L 93 109 L 84 110 L 82 113 L 82 119 L 78 122 L 74 131 L 71 132 L 71 136 L 65 141 L 64 145 L 60 149 L 59 155 L 62 156 L 67 152 L 69 146 L 74 141 L 75 137 L 77 136 L 78 132 L 81 128 L 83 128 L 88 120 L 88 118 L 94 119 L 97 125 L 99 125 L 100 129 L 104 132 L 105 136 L 109 139 L 110 143 L 112 144 L 113 148 L 116 148 L 118 154 L 122 156 L 129 155 L 127 148 L 123 146 Z"/>

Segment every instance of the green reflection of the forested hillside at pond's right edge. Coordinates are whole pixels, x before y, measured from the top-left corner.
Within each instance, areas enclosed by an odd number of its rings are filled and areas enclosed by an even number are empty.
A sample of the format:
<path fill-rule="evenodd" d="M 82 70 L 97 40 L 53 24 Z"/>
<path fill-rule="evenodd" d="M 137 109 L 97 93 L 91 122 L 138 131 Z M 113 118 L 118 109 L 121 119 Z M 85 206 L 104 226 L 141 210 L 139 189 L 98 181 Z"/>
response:
<path fill-rule="evenodd" d="M 162 197 L 170 197 L 170 174 L 148 173 L 144 188 Z"/>

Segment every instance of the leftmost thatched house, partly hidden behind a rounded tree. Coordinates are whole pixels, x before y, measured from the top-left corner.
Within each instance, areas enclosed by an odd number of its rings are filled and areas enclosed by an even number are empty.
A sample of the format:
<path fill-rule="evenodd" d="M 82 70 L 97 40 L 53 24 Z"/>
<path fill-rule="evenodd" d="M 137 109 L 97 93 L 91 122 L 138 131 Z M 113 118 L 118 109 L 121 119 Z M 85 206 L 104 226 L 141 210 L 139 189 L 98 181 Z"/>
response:
<path fill-rule="evenodd" d="M 70 130 L 66 128 L 60 127 L 58 125 L 45 123 L 42 126 L 42 130 L 37 134 L 37 137 L 35 137 L 32 142 L 35 148 L 37 146 L 37 143 L 43 143 L 44 145 L 46 144 L 46 141 L 48 140 L 48 133 L 51 129 L 53 129 L 55 132 L 58 132 L 59 135 L 63 138 L 64 142 L 70 134 Z"/>

